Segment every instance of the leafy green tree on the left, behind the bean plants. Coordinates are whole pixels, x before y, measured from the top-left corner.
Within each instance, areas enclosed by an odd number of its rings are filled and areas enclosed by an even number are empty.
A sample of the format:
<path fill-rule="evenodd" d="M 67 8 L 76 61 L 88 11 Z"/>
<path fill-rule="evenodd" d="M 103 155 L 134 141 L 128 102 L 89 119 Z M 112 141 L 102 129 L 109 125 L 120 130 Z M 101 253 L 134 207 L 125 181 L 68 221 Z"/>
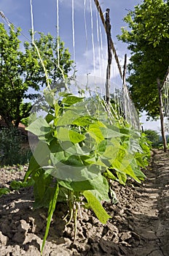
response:
<path fill-rule="evenodd" d="M 29 116 L 31 101 L 38 97 L 46 78 L 34 46 L 24 42 L 24 50 L 20 50 L 20 28 L 15 31 L 14 26 L 11 26 L 8 32 L 3 23 L 0 23 L 0 34 L 0 116 L 8 127 L 17 127 L 23 118 Z M 56 82 L 63 75 L 67 78 L 73 61 L 68 49 L 64 48 L 64 43 L 50 34 L 42 33 L 39 33 L 39 39 L 35 42 L 50 81 Z"/>

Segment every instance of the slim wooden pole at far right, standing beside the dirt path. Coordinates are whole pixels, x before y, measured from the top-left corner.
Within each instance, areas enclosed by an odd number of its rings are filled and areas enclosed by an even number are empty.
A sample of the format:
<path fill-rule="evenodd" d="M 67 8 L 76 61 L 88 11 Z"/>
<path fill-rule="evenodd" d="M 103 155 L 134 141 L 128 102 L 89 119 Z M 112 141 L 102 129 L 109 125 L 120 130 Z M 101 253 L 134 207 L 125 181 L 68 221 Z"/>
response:
<path fill-rule="evenodd" d="M 160 122 L 161 122 L 161 133 L 162 133 L 162 142 L 164 151 L 167 151 L 167 140 L 165 137 L 165 124 L 164 124 L 164 115 L 163 115 L 163 103 L 162 103 L 162 87 L 160 84 L 160 79 L 157 78 L 158 94 L 159 94 L 159 105 L 160 105 Z"/>

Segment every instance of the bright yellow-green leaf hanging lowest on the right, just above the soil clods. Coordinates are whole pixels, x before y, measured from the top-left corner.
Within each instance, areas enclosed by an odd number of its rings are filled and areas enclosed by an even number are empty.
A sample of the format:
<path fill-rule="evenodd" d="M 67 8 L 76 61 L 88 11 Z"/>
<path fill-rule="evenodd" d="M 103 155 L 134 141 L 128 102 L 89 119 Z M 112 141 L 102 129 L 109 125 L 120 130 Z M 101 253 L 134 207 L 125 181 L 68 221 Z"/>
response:
<path fill-rule="evenodd" d="M 90 191 L 84 191 L 83 195 L 87 199 L 90 208 L 93 208 L 96 217 L 98 217 L 101 223 L 106 224 L 106 222 L 109 218 L 111 218 L 111 216 L 109 216 L 109 214 L 106 213 L 105 209 L 98 201 L 98 199 Z"/>

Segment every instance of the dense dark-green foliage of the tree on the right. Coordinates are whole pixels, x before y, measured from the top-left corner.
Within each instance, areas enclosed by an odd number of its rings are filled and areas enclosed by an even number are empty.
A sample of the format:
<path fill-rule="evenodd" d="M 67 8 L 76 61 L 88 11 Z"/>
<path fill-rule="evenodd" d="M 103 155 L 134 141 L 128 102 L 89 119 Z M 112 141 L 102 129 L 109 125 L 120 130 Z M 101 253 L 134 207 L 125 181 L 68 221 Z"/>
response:
<path fill-rule="evenodd" d="M 124 20 L 128 27 L 122 28 L 118 39 L 127 42 L 131 52 L 127 81 L 133 102 L 157 118 L 157 78 L 164 79 L 169 64 L 169 1 L 144 0 Z"/>

